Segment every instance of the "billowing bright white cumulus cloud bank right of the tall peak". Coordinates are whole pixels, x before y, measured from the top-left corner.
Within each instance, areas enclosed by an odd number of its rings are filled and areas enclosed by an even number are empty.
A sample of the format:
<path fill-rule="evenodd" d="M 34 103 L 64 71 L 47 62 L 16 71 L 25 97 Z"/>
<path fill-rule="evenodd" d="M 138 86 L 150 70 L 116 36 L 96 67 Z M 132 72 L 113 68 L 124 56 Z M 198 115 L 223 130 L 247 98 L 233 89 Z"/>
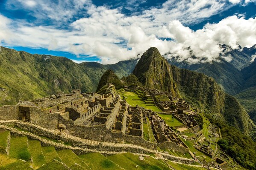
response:
<path fill-rule="evenodd" d="M 222 51 L 218 44 L 227 44 L 236 49 L 253 46 L 256 43 L 256 18 L 245 20 L 237 16 L 227 17 L 219 23 L 206 24 L 196 32 L 183 26 L 179 21 L 169 23 L 171 38 L 179 48 L 170 49 L 167 58 L 177 58 L 178 61 L 188 60 L 190 63 L 212 62 L 218 60 Z M 188 48 L 189 47 L 189 48 Z M 191 58 L 191 55 L 194 55 Z M 232 58 L 226 56 L 226 61 Z"/>

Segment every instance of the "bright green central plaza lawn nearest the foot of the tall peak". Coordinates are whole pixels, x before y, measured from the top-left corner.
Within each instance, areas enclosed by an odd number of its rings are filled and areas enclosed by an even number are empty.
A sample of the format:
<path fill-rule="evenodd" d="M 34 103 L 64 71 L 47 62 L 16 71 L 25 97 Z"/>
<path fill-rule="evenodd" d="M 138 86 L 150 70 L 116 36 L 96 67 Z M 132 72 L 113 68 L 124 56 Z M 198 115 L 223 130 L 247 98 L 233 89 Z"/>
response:
<path fill-rule="evenodd" d="M 121 95 L 124 96 L 127 103 L 133 107 L 138 105 L 140 107 L 144 107 L 145 109 L 151 109 L 155 112 L 162 112 L 162 110 L 157 108 L 155 105 L 146 105 L 145 102 L 142 101 L 141 98 L 139 98 L 134 92 L 123 92 Z"/>

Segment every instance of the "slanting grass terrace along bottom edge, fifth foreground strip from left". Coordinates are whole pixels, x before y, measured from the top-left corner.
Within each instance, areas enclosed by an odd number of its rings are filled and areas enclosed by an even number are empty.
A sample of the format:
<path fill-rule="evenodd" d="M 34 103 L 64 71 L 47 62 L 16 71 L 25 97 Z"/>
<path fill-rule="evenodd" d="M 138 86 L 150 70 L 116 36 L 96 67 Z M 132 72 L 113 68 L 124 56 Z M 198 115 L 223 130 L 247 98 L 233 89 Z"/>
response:
<path fill-rule="evenodd" d="M 56 152 L 62 161 L 72 170 L 77 168 L 75 165 L 76 163 L 84 167 L 85 170 L 90 169 L 88 165 L 82 161 L 82 159 L 80 159 L 74 152 L 72 152 L 72 150 L 57 150 Z"/>

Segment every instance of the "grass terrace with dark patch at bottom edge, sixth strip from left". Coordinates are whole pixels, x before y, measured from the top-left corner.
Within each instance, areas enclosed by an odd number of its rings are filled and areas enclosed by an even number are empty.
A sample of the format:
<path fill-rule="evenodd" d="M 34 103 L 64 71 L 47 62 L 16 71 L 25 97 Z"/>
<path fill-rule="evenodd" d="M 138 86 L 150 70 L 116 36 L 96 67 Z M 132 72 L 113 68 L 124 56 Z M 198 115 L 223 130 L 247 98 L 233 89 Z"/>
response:
<path fill-rule="evenodd" d="M 81 158 L 91 170 L 121 170 L 121 167 L 118 167 L 117 164 L 100 153 L 87 153 L 79 155 L 79 158 Z"/>

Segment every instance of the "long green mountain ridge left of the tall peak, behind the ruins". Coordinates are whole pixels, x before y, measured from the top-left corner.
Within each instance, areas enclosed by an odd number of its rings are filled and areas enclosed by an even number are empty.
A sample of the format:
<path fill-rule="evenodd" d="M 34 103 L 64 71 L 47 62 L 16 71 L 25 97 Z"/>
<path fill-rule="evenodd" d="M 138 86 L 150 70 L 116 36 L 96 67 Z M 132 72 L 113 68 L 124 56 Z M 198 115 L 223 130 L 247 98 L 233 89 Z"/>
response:
<path fill-rule="evenodd" d="M 1 47 L 0 105 L 71 89 L 93 92 L 106 70 L 113 69 L 121 78 L 129 75 L 136 63 L 136 60 L 130 60 L 110 65 L 96 62 L 77 64 L 64 57 L 32 55 Z"/>

